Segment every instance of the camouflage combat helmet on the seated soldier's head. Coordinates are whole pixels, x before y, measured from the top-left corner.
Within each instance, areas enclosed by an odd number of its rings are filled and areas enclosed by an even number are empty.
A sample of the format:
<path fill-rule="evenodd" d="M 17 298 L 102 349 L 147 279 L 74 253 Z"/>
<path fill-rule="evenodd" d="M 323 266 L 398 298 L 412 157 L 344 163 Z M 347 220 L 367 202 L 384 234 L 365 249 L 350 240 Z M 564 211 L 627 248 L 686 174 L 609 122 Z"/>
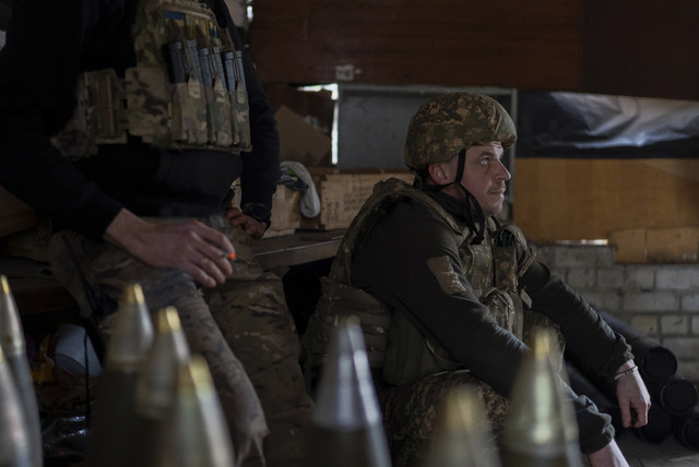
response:
<path fill-rule="evenodd" d="M 420 106 L 405 139 L 405 165 L 413 170 L 446 163 L 471 146 L 499 141 L 507 149 L 517 141 L 514 122 L 495 99 L 452 93 Z"/>

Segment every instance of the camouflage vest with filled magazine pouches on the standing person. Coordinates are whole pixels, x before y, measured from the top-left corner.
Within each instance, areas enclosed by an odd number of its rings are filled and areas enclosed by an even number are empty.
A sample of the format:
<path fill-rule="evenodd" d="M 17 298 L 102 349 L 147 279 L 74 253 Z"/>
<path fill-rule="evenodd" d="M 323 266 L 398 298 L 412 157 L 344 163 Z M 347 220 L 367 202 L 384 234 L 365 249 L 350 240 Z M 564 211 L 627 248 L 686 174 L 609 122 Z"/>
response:
<path fill-rule="evenodd" d="M 242 56 L 197 0 L 140 0 L 132 26 L 137 65 L 82 73 L 73 117 L 51 139 L 71 159 L 127 132 L 163 149 L 250 151 Z"/>

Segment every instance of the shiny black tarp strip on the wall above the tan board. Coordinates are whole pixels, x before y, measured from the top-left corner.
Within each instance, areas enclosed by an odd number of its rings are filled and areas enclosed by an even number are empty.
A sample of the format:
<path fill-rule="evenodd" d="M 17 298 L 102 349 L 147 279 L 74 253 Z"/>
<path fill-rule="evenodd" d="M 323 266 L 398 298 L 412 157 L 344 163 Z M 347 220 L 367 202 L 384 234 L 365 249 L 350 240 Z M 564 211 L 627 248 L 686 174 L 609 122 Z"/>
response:
<path fill-rule="evenodd" d="M 699 101 L 520 91 L 518 157 L 699 157 Z"/>

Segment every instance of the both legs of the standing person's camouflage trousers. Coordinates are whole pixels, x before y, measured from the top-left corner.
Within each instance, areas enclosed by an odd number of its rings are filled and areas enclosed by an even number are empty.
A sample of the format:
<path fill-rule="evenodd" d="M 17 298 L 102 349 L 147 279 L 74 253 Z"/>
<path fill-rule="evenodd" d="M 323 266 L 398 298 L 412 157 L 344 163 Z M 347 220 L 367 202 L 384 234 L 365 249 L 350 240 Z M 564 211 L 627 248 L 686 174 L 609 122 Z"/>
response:
<path fill-rule="evenodd" d="M 81 312 L 90 313 L 68 241 L 94 296 L 106 339 L 129 284 L 141 285 L 152 314 L 165 307 L 177 309 L 191 352 L 209 363 L 236 466 L 300 466 L 312 400 L 298 363 L 299 339 L 282 282 L 262 271 L 252 255 L 252 240 L 241 229 L 228 235 L 236 249 L 234 273 L 225 284 L 206 290 L 181 271 L 149 266 L 117 247 L 73 231 L 55 234 L 49 255 L 58 280 Z"/>

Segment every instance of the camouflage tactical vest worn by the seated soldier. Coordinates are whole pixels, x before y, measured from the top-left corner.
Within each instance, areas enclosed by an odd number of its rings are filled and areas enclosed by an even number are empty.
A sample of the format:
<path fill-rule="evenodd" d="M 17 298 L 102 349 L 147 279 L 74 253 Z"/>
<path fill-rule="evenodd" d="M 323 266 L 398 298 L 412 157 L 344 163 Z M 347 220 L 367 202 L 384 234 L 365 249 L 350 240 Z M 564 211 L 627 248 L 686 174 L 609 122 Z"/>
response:
<path fill-rule="evenodd" d="M 413 316 L 394 312 L 388 303 L 351 286 L 352 255 L 360 239 L 392 204 L 406 197 L 419 202 L 447 223 L 460 244 L 463 272 L 474 294 L 501 327 L 522 337 L 523 308 L 531 301 L 519 290 L 518 278 L 534 261 L 534 253 L 526 247 L 520 229 L 512 225 L 498 227 L 495 220 L 488 219 L 485 241 L 471 244 L 475 232 L 465 224 L 457 221 L 426 193 L 390 179 L 377 183 L 347 229 L 329 276 L 321 278 L 321 297 L 304 335 L 311 364 L 327 361 L 327 346 L 339 321 L 356 315 L 364 331 L 369 364 L 381 369 L 388 383 L 406 384 L 440 371 L 464 369 Z"/>

